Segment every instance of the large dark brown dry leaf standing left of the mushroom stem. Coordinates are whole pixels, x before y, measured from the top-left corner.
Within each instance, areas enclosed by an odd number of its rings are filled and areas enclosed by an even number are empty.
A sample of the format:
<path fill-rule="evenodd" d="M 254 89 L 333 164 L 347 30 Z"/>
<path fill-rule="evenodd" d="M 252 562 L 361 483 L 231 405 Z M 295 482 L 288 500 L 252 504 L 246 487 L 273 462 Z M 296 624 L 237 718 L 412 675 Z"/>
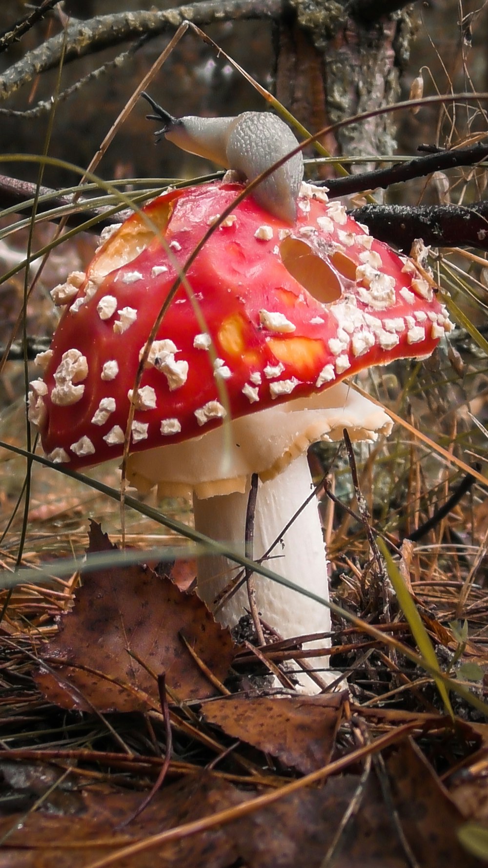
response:
<path fill-rule="evenodd" d="M 92 523 L 89 554 L 115 549 L 100 526 Z M 156 675 L 164 673 L 168 687 L 181 700 L 214 695 L 215 688 L 188 653 L 180 633 L 223 680 L 234 643 L 199 597 L 182 593 L 143 566 L 87 572 L 76 591 L 75 607 L 61 616 L 58 634 L 44 648 L 47 667 L 36 674 L 37 684 L 49 700 L 64 708 L 128 712 L 160 707 L 155 678 L 130 651 Z"/>

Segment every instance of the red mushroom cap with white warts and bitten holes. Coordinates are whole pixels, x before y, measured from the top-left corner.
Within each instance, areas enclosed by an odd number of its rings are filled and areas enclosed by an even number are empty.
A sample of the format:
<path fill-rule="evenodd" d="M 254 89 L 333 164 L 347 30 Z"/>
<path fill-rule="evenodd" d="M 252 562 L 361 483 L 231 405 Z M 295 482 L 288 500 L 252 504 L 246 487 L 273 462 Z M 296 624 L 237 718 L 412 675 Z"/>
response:
<path fill-rule="evenodd" d="M 144 213 L 182 266 L 240 192 L 188 187 Z M 131 399 L 130 450 L 145 450 L 221 424 L 218 379 L 238 418 L 370 365 L 428 356 L 451 328 L 412 260 L 303 185 L 292 228 L 247 198 L 214 231 L 188 270 L 205 328 L 180 286 L 134 398 L 139 359 L 176 278 L 158 235 L 134 214 L 104 240 L 86 277 L 74 273 L 53 290 L 66 309 L 30 395 L 53 461 L 79 468 L 121 456 Z"/>

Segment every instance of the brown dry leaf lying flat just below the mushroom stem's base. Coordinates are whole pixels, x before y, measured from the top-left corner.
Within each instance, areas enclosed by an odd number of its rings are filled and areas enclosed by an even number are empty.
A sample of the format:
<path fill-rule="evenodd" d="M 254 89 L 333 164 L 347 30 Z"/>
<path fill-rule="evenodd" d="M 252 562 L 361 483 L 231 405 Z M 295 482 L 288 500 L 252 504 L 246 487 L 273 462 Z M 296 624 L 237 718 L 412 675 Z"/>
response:
<path fill-rule="evenodd" d="M 307 774 L 329 761 L 347 696 L 230 696 L 206 703 L 202 713 L 224 733 Z"/>

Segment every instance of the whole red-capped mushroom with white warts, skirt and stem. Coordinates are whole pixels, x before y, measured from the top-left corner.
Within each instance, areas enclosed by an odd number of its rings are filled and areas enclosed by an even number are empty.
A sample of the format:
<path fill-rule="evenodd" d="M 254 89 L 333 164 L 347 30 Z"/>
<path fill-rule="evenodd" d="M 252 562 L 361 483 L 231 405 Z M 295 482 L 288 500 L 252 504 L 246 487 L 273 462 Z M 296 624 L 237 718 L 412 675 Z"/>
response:
<path fill-rule="evenodd" d="M 428 356 L 451 325 L 412 260 L 303 185 L 293 226 L 249 197 L 215 229 L 188 270 L 194 300 L 178 288 L 135 391 L 148 334 L 178 276 L 175 262 L 188 260 L 240 192 L 214 182 L 146 206 L 170 256 L 136 214 L 105 233 L 86 276 L 72 274 L 53 290 L 65 311 L 51 349 L 38 357 L 44 376 L 32 383 L 30 418 L 48 457 L 78 469 L 122 455 L 132 402 L 130 481 L 194 494 L 197 529 L 241 549 L 249 480 L 258 473 L 259 558 L 311 491 L 309 444 L 339 439 L 345 427 L 356 439 L 391 428 L 383 411 L 340 381 L 370 365 Z M 327 596 L 316 503 L 271 556 L 276 572 Z M 199 594 L 212 603 L 234 569 L 202 559 Z M 258 608 L 281 635 L 330 628 L 316 602 L 256 584 Z M 241 589 L 218 617 L 234 624 L 246 606 Z"/>

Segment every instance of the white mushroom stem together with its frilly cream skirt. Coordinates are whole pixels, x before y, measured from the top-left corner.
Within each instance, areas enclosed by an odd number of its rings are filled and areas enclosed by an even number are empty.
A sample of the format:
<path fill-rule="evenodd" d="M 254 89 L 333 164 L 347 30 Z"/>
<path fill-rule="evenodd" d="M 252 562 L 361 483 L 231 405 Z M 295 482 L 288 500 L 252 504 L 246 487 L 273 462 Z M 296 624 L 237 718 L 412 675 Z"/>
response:
<path fill-rule="evenodd" d="M 194 440 L 134 452 L 129 457 L 128 478 L 139 490 L 157 483 L 163 496 L 193 494 L 196 528 L 243 553 L 249 481 L 253 473 L 259 473 L 253 552 L 257 560 L 311 493 L 309 444 L 340 439 L 344 428 L 353 440 L 375 440 L 391 427 L 381 408 L 339 383 L 308 398 L 234 419 L 229 427 L 202 433 Z M 266 564 L 326 599 L 326 552 L 314 499 Z M 223 557 L 202 559 L 198 592 L 210 607 L 239 569 Z M 284 639 L 330 629 L 328 609 L 320 603 L 257 574 L 254 586 L 263 620 Z M 226 602 L 218 618 L 234 625 L 247 608 L 247 589 L 242 588 Z M 323 668 L 328 657 L 310 662 Z M 313 682 L 307 676 L 300 678 L 302 684 L 305 680 L 307 690 L 313 691 Z"/>

